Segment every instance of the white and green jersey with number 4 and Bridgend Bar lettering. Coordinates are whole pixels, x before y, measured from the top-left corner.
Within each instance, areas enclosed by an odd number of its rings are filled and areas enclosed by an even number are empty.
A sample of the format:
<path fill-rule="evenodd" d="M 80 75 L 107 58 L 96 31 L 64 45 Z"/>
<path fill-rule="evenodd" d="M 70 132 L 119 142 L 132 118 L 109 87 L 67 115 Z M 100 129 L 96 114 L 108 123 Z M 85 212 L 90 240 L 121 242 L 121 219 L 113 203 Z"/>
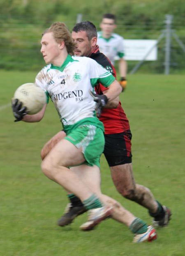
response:
<path fill-rule="evenodd" d="M 114 80 L 113 75 L 93 59 L 68 55 L 61 67 L 49 64 L 42 68 L 35 83 L 55 104 L 64 129 L 70 129 L 69 126 L 84 119 L 99 122 L 89 90 L 94 91 L 99 82 L 108 87 Z"/>

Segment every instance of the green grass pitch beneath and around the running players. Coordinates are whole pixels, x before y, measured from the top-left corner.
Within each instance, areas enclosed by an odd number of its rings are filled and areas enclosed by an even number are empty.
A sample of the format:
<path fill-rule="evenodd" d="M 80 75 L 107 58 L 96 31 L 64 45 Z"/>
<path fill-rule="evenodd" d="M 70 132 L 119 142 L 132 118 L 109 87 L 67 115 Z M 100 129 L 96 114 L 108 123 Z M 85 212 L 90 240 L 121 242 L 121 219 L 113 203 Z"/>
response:
<path fill-rule="evenodd" d="M 153 191 L 173 212 L 153 243 L 133 244 L 126 226 L 109 219 L 83 233 L 86 214 L 65 228 L 56 225 L 67 204 L 65 192 L 42 174 L 39 152 L 61 128 L 49 104 L 39 123 L 13 122 L 2 108 L 15 89 L 36 73 L 0 70 L 0 255 L 5 256 L 184 256 L 185 251 L 185 76 L 130 75 L 120 101 L 130 120 L 137 183 Z M 102 191 L 148 224 L 146 209 L 121 197 L 102 155 Z"/>

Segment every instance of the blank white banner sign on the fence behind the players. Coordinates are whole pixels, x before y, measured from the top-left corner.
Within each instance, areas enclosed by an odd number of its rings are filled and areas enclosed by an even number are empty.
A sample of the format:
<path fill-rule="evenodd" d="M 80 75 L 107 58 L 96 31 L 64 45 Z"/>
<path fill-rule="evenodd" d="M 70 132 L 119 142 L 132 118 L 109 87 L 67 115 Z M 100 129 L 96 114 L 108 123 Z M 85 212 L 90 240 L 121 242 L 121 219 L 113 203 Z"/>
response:
<path fill-rule="evenodd" d="M 157 40 L 130 40 L 124 39 L 125 56 L 128 61 L 141 61 L 146 57 L 146 61 L 157 60 Z"/>

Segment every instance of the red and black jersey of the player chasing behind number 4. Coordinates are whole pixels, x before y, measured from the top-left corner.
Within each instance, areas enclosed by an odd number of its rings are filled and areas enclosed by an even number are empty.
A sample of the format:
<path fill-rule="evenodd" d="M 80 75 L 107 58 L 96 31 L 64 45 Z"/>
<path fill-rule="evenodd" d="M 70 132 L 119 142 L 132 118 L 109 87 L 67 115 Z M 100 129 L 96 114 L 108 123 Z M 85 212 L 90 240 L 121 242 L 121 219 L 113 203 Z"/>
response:
<path fill-rule="evenodd" d="M 99 52 L 98 45 L 89 57 L 97 61 L 97 63 L 107 70 L 110 70 L 110 72 L 116 77 L 116 70 L 114 66 L 103 53 Z M 99 84 L 95 89 L 97 94 L 101 95 L 107 88 Z M 118 108 L 104 108 L 99 120 L 104 124 L 105 134 L 117 134 L 130 129 L 129 121 L 120 102 Z"/>

